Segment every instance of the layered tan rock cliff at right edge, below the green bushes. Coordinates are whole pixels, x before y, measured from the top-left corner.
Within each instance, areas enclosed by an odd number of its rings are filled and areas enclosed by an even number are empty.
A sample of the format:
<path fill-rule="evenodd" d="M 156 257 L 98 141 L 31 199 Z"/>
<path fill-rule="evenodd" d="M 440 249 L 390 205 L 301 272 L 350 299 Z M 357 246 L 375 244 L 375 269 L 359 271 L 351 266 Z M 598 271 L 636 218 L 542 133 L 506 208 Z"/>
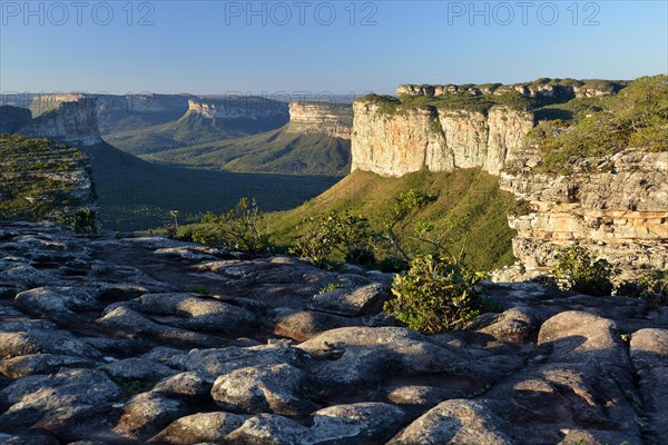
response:
<path fill-rule="evenodd" d="M 573 243 L 627 271 L 668 268 L 668 152 L 623 151 L 605 171 L 557 178 L 524 167 L 503 172 L 500 186 L 531 202 L 531 214 L 509 217 L 514 256 L 529 275 Z"/>

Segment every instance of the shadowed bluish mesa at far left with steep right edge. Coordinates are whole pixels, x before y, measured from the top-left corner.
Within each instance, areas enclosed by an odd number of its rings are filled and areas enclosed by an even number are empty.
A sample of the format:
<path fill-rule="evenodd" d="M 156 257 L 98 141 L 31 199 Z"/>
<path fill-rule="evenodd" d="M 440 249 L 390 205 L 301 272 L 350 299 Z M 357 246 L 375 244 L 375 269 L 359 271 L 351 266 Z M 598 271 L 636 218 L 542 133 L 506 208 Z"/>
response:
<path fill-rule="evenodd" d="M 81 146 L 95 146 L 102 141 L 95 98 L 60 102 L 55 109 L 36 117 L 29 126 L 18 132 Z"/>

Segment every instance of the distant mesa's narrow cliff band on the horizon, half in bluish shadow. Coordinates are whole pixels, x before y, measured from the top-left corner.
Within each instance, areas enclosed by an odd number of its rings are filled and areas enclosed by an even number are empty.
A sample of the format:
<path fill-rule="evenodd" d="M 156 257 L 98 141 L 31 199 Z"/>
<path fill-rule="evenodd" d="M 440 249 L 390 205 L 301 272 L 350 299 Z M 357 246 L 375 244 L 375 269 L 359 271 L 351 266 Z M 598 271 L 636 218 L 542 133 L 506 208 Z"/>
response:
<path fill-rule="evenodd" d="M 287 118 L 287 103 L 261 97 L 229 97 L 220 99 L 189 99 L 188 113 L 206 119 Z"/>

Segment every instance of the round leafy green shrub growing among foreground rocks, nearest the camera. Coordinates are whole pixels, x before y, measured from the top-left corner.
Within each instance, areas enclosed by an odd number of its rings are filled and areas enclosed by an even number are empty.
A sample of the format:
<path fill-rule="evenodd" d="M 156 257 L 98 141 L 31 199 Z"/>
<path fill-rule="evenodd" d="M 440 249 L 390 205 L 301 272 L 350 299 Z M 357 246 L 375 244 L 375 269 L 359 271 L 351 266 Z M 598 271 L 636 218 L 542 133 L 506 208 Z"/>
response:
<path fill-rule="evenodd" d="M 435 334 L 461 329 L 483 309 L 477 285 L 484 274 L 450 256 L 418 256 L 409 270 L 396 275 L 385 313 L 411 329 Z"/>

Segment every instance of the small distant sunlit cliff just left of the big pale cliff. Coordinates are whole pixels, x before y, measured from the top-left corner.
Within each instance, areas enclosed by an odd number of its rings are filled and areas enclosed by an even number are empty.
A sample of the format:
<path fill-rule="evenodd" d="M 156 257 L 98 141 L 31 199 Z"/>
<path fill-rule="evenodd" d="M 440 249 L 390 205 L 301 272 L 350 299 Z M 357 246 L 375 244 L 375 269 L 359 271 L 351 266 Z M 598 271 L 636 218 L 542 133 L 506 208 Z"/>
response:
<path fill-rule="evenodd" d="M 289 103 L 289 132 L 325 134 L 350 139 L 352 126 L 353 108 L 350 105 L 304 101 Z"/>

